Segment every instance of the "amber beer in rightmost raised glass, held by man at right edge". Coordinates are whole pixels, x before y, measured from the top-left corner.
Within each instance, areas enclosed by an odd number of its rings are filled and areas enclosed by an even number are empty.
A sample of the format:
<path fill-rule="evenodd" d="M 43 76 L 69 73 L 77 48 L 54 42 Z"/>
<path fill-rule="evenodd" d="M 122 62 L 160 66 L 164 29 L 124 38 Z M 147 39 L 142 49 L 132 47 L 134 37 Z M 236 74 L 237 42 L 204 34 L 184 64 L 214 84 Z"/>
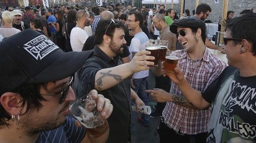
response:
<path fill-rule="evenodd" d="M 163 71 L 167 73 L 174 73 L 174 68 L 178 63 L 178 57 L 166 56 L 163 63 Z"/>

